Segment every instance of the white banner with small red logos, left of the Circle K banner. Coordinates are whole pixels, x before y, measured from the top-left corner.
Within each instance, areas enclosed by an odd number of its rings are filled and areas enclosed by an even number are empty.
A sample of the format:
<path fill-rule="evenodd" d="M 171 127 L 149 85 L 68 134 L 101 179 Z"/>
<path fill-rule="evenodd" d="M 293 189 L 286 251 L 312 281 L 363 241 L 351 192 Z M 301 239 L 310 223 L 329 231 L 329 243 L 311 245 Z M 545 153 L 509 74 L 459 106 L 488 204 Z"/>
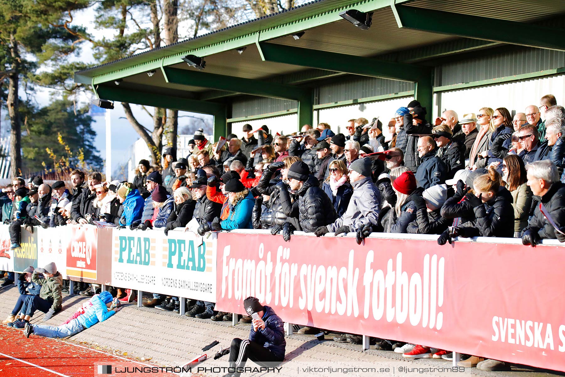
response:
<path fill-rule="evenodd" d="M 36 227 L 37 232 L 37 266 L 55 262 L 57 270 L 67 279 L 67 249 L 69 247 L 70 227 L 55 227 L 44 229 Z"/>

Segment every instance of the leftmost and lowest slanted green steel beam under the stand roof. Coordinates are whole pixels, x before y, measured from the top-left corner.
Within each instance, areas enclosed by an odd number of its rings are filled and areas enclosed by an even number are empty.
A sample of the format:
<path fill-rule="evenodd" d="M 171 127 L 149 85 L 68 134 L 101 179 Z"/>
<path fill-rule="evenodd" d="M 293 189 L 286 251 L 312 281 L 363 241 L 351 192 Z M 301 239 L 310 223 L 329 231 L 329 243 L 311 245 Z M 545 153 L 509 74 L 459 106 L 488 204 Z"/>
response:
<path fill-rule="evenodd" d="M 99 98 L 108 101 L 135 103 L 153 107 L 163 107 L 164 109 L 199 112 L 200 114 L 223 114 L 225 115 L 225 105 L 222 103 L 196 101 L 175 96 L 165 96 L 163 94 L 146 93 L 138 90 L 125 88 L 112 88 L 111 86 L 98 86 L 97 93 Z"/>

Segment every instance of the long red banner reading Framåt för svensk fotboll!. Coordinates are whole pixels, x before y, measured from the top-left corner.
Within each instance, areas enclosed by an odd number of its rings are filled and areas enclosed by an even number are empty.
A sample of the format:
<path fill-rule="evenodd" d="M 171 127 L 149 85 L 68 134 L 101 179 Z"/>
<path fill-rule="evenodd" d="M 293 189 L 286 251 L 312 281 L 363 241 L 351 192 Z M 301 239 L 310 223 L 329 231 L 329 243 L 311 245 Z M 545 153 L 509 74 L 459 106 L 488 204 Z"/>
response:
<path fill-rule="evenodd" d="M 493 239 L 496 241 L 496 239 Z M 565 371 L 565 248 L 220 233 L 216 310 Z"/>

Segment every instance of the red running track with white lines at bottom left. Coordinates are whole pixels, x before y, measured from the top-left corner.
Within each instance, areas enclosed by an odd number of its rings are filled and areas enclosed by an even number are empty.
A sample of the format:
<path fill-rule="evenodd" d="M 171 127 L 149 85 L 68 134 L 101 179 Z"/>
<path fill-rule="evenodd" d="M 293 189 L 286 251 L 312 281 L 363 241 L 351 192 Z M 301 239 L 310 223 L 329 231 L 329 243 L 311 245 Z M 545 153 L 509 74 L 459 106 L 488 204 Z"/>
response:
<path fill-rule="evenodd" d="M 0 377 L 103 377 L 103 376 L 178 376 L 172 372 L 151 372 L 147 363 L 116 357 L 98 350 L 57 339 L 31 335 L 22 330 L 0 327 Z M 111 365 L 111 374 L 98 374 L 99 365 Z M 134 372 L 133 367 L 148 372 Z M 129 372 L 124 371 L 127 368 Z M 155 371 L 155 370 L 154 370 Z"/>

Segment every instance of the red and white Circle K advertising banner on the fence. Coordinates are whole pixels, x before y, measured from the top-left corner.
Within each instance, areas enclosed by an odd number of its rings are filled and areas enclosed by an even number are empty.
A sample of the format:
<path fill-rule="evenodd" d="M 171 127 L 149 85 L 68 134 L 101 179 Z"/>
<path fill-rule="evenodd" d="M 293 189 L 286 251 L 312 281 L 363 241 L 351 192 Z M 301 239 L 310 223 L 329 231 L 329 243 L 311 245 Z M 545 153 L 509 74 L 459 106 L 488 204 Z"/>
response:
<path fill-rule="evenodd" d="M 70 234 L 67 240 L 67 276 L 97 280 L 98 228 L 72 227 L 66 232 Z"/>

